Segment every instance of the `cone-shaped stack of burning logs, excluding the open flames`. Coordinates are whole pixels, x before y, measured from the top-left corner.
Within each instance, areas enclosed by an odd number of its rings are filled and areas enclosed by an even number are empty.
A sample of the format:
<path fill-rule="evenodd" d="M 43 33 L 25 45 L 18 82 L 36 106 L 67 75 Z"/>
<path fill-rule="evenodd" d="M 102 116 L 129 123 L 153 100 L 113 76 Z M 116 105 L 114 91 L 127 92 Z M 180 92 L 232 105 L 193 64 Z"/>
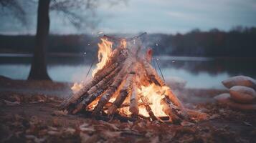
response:
<path fill-rule="evenodd" d="M 118 108 L 122 107 L 125 99 L 130 97 L 128 106 L 133 117 L 138 116 L 138 108 L 144 106 L 151 120 L 163 122 L 153 114 L 147 97 L 138 93 L 141 86 L 147 87 L 149 84 L 166 86 L 150 62 L 151 54 L 150 52 L 143 54 L 141 44 L 133 44 L 131 47 L 120 44 L 113 50 L 105 66 L 98 70 L 93 79 L 83 84 L 78 92 L 62 103 L 62 109 L 67 109 L 71 114 L 89 108 L 92 109 L 93 114 L 100 114 L 103 110 L 108 110 L 108 114 L 114 114 L 118 112 Z M 168 122 L 179 123 L 183 120 L 207 118 L 207 114 L 184 108 L 171 89 L 167 89 L 163 94 L 165 96 L 161 99 L 162 106 L 159 107 L 162 107 L 162 111 L 169 116 Z M 106 109 L 106 104 L 110 103 L 111 97 L 115 97 L 115 101 Z M 139 100 L 141 102 L 138 102 Z"/>

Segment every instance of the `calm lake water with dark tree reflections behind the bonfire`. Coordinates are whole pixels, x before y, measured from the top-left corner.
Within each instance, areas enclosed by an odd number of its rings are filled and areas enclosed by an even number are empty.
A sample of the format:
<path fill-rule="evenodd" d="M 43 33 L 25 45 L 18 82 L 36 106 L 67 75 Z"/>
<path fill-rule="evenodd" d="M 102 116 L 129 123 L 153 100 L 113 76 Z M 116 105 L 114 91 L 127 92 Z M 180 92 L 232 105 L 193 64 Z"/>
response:
<path fill-rule="evenodd" d="M 54 81 L 80 82 L 85 79 L 93 56 L 49 56 L 48 72 Z M 224 88 L 222 80 L 235 75 L 256 78 L 256 59 L 212 59 L 186 56 L 157 56 L 163 77 L 179 77 L 190 88 Z M 30 54 L 0 54 L 0 75 L 27 79 Z M 157 67 L 155 62 L 153 66 Z M 158 70 L 160 74 L 160 71 Z"/>

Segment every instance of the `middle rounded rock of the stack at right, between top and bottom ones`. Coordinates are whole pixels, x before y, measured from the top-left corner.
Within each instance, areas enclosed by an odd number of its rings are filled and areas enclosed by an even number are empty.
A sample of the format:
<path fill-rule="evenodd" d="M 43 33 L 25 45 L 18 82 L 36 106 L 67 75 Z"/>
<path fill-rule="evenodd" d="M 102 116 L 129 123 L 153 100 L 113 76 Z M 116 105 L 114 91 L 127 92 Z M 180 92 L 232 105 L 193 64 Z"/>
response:
<path fill-rule="evenodd" d="M 252 103 L 256 101 L 256 92 L 250 87 L 234 86 L 229 89 L 229 93 L 235 102 Z"/>

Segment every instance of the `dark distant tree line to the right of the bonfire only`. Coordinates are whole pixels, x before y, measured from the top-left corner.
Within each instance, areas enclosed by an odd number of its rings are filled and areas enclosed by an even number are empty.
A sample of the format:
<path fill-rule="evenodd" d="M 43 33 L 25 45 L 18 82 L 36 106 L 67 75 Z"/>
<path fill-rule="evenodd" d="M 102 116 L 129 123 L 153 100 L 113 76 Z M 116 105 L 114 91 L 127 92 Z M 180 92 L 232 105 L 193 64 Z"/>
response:
<path fill-rule="evenodd" d="M 154 35 L 157 37 L 157 35 Z M 187 34 L 158 35 L 156 54 L 174 56 L 256 56 L 256 28 L 237 26 L 226 32 L 194 29 Z M 156 46 L 157 45 L 157 46 Z"/>

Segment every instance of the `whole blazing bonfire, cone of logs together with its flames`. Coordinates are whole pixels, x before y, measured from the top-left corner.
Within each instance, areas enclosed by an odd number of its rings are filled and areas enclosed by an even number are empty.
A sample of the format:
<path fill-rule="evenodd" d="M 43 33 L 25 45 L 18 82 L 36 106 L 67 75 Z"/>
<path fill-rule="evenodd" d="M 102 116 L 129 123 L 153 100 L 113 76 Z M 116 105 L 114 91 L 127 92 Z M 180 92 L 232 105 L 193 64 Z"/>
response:
<path fill-rule="evenodd" d="M 103 36 L 100 40 L 93 78 L 75 84 L 75 93 L 62 103 L 62 109 L 71 114 L 120 114 L 177 124 L 207 118 L 207 114 L 186 109 L 166 86 L 151 66 L 152 49 L 144 48 L 138 37 Z"/>

